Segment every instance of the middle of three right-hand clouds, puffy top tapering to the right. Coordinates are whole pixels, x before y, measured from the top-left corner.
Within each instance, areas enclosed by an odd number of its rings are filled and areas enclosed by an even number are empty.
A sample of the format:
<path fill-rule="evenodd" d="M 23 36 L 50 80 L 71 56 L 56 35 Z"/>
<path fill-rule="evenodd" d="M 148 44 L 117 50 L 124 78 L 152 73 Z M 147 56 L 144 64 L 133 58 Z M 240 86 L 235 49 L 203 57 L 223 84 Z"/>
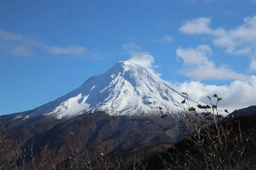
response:
<path fill-rule="evenodd" d="M 248 76 L 230 70 L 227 65 L 216 66 L 209 61 L 212 55 L 211 47 L 200 45 L 194 48 L 176 50 L 177 58 L 183 59 L 183 69 L 179 73 L 196 80 L 220 79 L 220 80 L 247 80 Z"/>

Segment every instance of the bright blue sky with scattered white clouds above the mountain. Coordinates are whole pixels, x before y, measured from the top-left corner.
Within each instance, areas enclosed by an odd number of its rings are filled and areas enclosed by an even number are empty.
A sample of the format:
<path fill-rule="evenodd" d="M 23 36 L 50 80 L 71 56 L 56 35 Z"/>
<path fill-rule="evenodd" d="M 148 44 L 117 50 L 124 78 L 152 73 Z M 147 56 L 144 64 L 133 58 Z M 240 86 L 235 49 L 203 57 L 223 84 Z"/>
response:
<path fill-rule="evenodd" d="M 255 0 L 0 2 L 0 114 L 26 111 L 120 60 L 220 108 L 256 104 Z"/>

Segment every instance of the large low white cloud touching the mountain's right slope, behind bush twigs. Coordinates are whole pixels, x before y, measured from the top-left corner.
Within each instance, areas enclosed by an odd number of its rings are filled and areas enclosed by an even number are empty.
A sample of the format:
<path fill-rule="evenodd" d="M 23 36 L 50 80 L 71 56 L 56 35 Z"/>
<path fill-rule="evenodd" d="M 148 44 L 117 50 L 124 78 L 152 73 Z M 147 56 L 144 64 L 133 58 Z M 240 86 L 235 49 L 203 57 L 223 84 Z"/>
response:
<path fill-rule="evenodd" d="M 207 96 L 211 97 L 213 94 L 217 94 L 222 98 L 218 103 L 218 108 L 221 110 L 228 109 L 230 113 L 256 103 L 255 95 L 253 95 L 256 94 L 255 76 L 251 76 L 248 81 L 235 80 L 229 86 L 208 85 L 199 81 L 176 83 L 174 86 L 206 104 L 210 104 Z M 211 99 L 216 102 L 214 97 L 211 97 Z"/>

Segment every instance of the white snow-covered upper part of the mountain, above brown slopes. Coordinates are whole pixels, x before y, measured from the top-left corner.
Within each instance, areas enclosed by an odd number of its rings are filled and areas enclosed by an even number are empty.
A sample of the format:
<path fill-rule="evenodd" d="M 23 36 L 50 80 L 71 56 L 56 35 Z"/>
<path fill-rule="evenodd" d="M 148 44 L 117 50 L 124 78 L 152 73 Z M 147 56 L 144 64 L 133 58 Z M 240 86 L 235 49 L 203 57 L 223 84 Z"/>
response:
<path fill-rule="evenodd" d="M 154 115 L 158 107 L 177 114 L 184 111 L 186 98 L 172 85 L 145 67 L 118 62 L 106 73 L 87 79 L 82 86 L 34 110 L 9 115 L 13 119 L 49 116 L 70 119 L 88 111 L 106 111 L 110 115 Z M 189 97 L 190 106 L 205 105 Z M 223 112 L 222 112 L 223 113 Z"/>

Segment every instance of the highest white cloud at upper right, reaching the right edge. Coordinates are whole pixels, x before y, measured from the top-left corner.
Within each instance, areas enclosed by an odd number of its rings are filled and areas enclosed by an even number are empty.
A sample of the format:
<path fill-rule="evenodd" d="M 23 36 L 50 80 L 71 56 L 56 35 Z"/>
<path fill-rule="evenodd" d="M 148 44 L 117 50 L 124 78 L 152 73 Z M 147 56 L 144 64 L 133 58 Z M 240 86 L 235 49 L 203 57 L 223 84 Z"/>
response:
<path fill-rule="evenodd" d="M 212 29 L 211 18 L 199 17 L 187 21 L 179 28 L 179 31 L 190 34 L 208 34 L 213 36 L 213 44 L 225 48 L 227 53 L 238 55 L 255 55 L 256 44 L 256 15 L 244 18 L 244 23 L 236 28 L 225 30 L 224 28 Z"/>

